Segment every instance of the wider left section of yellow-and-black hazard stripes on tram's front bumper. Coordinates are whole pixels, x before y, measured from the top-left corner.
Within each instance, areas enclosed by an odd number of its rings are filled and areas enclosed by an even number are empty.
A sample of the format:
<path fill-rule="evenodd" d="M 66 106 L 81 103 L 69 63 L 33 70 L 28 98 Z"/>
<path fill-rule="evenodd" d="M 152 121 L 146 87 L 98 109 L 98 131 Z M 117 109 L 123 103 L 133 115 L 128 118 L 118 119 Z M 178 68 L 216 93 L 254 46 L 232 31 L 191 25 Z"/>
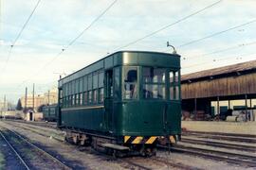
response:
<path fill-rule="evenodd" d="M 124 136 L 124 144 L 154 144 L 156 136 Z"/>

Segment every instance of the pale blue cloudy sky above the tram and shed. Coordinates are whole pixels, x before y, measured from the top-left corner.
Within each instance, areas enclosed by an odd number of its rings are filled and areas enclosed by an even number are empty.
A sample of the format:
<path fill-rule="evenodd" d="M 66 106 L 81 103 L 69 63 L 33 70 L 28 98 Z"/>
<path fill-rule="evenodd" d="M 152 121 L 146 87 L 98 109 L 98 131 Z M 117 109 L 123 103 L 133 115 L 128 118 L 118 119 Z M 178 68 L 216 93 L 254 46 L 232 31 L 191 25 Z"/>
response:
<path fill-rule="evenodd" d="M 182 75 L 256 59 L 255 0 L 0 3 L 0 100 L 6 95 L 13 103 L 33 83 L 46 93 L 59 75 L 119 50 L 172 53 L 170 42 Z"/>

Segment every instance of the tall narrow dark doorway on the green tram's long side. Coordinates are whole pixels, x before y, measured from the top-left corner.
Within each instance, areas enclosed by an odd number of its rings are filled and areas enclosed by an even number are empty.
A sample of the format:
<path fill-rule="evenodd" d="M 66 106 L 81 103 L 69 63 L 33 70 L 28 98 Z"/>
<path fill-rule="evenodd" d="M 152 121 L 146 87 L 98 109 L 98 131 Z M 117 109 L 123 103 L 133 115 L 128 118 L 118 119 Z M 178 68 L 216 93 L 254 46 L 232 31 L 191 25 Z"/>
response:
<path fill-rule="evenodd" d="M 113 70 L 105 72 L 105 99 L 104 99 L 104 119 L 105 127 L 113 132 Z"/>

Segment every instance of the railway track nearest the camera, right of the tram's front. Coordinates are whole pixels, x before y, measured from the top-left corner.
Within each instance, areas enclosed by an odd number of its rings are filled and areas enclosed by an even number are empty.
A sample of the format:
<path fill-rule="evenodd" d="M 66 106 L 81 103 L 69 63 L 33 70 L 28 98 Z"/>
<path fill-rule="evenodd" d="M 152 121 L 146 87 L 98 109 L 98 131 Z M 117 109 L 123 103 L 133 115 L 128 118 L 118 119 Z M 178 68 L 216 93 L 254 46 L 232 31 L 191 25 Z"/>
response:
<path fill-rule="evenodd" d="M 158 145 L 160 149 L 169 149 L 167 146 Z M 198 156 L 205 159 L 215 160 L 215 161 L 226 161 L 229 163 L 234 163 L 242 165 L 244 167 L 256 167 L 256 157 L 235 154 L 220 150 L 206 149 L 200 147 L 176 145 L 170 148 L 171 151 L 182 153 L 186 155 Z"/>

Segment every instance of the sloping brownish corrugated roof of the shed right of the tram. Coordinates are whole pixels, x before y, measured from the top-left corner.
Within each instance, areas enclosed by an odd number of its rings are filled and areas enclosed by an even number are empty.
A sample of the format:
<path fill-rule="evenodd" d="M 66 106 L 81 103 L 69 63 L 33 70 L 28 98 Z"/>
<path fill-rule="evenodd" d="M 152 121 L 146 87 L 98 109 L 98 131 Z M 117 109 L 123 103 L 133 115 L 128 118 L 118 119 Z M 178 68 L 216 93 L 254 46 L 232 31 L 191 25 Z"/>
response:
<path fill-rule="evenodd" d="M 181 81 L 203 78 L 207 76 L 219 76 L 235 72 L 243 72 L 247 70 L 256 70 L 256 60 L 250 60 L 247 62 L 237 63 L 233 65 L 183 75 L 181 76 Z"/>

